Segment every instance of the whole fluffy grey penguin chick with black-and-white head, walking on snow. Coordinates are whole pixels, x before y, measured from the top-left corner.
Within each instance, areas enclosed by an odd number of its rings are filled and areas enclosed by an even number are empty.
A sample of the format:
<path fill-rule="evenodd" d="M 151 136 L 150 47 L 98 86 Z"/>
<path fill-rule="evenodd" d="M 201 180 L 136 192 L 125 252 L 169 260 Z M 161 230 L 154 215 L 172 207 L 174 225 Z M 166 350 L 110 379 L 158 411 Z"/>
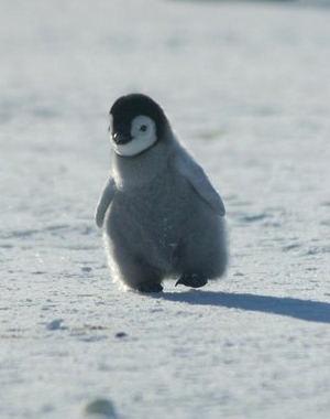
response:
<path fill-rule="evenodd" d="M 141 94 L 110 109 L 111 172 L 96 212 L 114 278 L 141 292 L 162 281 L 199 288 L 227 267 L 224 206 L 177 141 L 163 109 Z"/>

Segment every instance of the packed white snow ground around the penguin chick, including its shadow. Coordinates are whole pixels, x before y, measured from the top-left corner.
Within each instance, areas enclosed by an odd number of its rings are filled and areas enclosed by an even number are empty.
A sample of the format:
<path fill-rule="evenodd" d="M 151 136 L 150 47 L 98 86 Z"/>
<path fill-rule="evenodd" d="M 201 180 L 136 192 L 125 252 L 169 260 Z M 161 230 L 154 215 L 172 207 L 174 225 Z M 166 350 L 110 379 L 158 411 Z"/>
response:
<path fill-rule="evenodd" d="M 330 10 L 1 1 L 0 417 L 329 418 Z M 199 291 L 112 283 L 107 112 L 144 92 L 221 191 Z"/>

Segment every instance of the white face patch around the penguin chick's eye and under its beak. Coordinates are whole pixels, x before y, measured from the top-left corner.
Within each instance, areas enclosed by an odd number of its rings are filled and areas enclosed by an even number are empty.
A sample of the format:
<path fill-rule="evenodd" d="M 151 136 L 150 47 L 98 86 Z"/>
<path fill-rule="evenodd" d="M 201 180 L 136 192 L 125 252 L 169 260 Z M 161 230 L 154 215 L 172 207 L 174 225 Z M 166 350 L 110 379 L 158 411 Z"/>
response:
<path fill-rule="evenodd" d="M 140 115 L 131 122 L 131 136 L 132 140 L 125 144 L 111 141 L 117 154 L 132 157 L 147 150 L 157 141 L 156 125 L 150 117 Z"/>

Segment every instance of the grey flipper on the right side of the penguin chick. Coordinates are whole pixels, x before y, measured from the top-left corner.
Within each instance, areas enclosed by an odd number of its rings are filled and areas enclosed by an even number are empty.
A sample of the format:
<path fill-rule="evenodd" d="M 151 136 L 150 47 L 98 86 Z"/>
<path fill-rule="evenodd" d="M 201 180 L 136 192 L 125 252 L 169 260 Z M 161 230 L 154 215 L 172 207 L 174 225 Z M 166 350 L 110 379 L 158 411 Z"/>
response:
<path fill-rule="evenodd" d="M 180 148 L 174 157 L 177 171 L 190 183 L 198 195 L 220 216 L 224 216 L 226 210 L 219 193 L 212 186 L 201 166 Z"/>

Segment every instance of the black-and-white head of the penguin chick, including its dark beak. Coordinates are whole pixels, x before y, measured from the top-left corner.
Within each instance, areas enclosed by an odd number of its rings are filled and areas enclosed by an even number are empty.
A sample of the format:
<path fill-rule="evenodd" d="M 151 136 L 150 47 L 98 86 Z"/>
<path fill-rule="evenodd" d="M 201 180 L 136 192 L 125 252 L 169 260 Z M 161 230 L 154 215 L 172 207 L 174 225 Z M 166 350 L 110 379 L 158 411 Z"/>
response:
<path fill-rule="evenodd" d="M 167 127 L 167 118 L 152 98 L 121 96 L 110 109 L 110 132 L 117 154 L 134 157 L 154 146 Z"/>

